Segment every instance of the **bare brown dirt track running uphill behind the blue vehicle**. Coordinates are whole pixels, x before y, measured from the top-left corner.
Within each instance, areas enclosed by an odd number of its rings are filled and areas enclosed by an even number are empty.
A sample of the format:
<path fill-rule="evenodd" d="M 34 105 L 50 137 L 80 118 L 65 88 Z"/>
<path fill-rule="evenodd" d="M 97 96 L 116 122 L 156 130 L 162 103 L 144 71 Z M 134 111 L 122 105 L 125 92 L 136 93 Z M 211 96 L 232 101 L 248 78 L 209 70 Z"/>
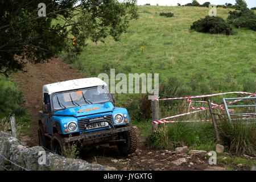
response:
<path fill-rule="evenodd" d="M 27 72 L 18 72 L 11 78 L 18 85 L 18 88 L 22 90 L 26 107 L 28 107 L 31 119 L 29 137 L 32 142 L 38 143 L 38 111 L 42 110 L 43 85 L 82 78 L 83 76 L 74 69 L 69 68 L 69 65 L 63 63 L 61 59 L 53 59 L 44 64 L 28 63 L 24 70 Z"/>

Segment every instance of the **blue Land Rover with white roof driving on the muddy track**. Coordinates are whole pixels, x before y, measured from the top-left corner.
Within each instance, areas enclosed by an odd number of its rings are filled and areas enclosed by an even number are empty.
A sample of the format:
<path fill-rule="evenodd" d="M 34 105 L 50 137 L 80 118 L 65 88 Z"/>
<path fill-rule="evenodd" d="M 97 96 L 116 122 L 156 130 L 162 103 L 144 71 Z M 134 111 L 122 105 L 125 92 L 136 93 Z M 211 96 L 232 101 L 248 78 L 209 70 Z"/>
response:
<path fill-rule="evenodd" d="M 137 135 L 125 108 L 115 107 L 100 78 L 81 78 L 43 86 L 39 111 L 39 143 L 63 155 L 67 144 L 116 145 L 123 155 L 137 148 Z"/>

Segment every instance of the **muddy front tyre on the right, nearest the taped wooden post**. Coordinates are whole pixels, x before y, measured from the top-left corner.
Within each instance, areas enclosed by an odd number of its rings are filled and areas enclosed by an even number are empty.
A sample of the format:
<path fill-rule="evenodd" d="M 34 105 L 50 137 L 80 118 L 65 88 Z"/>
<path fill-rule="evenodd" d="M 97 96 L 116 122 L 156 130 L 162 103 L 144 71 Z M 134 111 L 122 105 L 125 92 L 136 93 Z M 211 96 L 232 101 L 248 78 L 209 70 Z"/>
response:
<path fill-rule="evenodd" d="M 120 139 L 125 139 L 125 143 L 119 143 L 117 145 L 119 152 L 122 155 L 129 155 L 136 151 L 137 149 L 137 134 L 133 127 L 130 131 L 125 131 L 121 133 Z"/>

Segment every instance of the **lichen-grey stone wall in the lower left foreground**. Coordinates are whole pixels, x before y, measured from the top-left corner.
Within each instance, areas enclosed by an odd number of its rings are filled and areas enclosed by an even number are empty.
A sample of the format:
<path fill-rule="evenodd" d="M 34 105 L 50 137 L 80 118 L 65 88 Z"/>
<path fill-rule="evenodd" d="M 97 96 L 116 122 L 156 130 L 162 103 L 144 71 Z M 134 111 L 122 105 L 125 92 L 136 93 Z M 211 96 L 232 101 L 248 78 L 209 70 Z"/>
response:
<path fill-rule="evenodd" d="M 10 134 L 0 131 L 0 171 L 2 170 L 68 170 L 68 171 L 108 171 L 114 168 L 90 164 L 85 160 L 65 158 L 46 152 L 45 164 L 39 164 L 42 158 L 39 151 L 45 151 L 41 146 L 28 147 Z M 38 162 L 39 161 L 39 162 Z M 12 163 L 13 162 L 13 163 Z M 15 165 L 15 164 L 17 165 Z M 2 167 L 1 167 L 2 166 Z M 3 168 L 4 167 L 4 168 Z M 6 169 L 5 169 L 6 168 Z"/>

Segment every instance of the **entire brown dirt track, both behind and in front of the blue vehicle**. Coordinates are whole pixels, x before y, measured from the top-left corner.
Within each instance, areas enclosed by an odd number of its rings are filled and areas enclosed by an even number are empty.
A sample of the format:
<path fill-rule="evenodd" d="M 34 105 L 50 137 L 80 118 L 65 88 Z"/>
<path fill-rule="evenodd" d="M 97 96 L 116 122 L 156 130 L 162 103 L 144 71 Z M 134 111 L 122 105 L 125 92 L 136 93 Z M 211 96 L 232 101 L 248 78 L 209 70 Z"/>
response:
<path fill-rule="evenodd" d="M 38 111 L 42 108 L 42 87 L 52 82 L 82 78 L 81 73 L 69 68 L 60 59 L 54 59 L 50 63 L 31 64 L 25 69 L 27 72 L 19 72 L 11 77 L 19 89 L 24 93 L 28 113 L 31 116 L 31 133 L 28 137 L 32 142 L 38 143 Z M 87 152 L 82 152 L 82 159 L 90 163 L 104 164 L 123 170 L 204 170 L 210 165 L 205 156 L 177 154 L 175 151 L 152 150 L 145 146 L 144 138 L 138 133 L 138 148 L 134 154 L 127 157 L 119 156 L 116 147 L 99 146 Z M 27 143 L 30 145 L 30 143 Z M 184 158 L 186 162 L 175 165 L 172 162 Z M 214 165 L 223 167 L 222 165 Z M 215 168 L 216 169 L 216 168 Z M 223 168 L 217 168 L 223 169 Z M 238 170 L 248 168 L 238 168 Z"/>

